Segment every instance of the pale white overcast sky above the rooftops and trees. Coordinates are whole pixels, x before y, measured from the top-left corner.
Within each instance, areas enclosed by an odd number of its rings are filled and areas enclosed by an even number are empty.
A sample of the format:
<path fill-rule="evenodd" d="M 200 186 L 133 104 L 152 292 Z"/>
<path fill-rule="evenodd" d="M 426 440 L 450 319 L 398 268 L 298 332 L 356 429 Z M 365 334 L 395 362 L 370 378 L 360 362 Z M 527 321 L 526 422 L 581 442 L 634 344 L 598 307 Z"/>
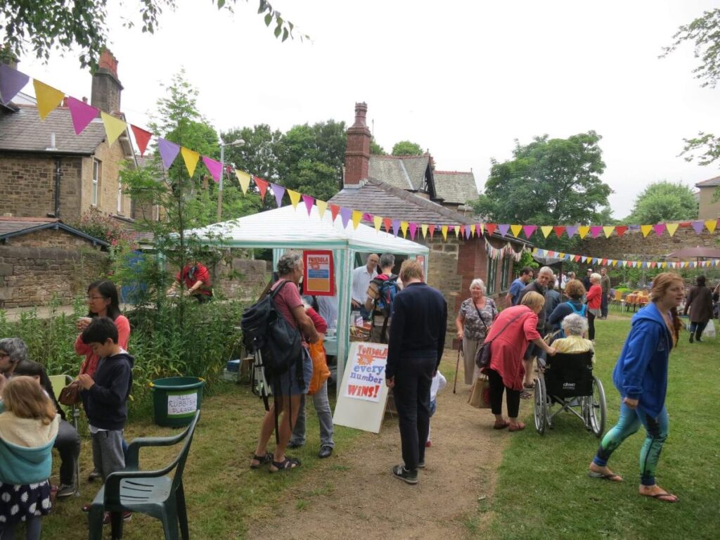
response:
<path fill-rule="evenodd" d="M 652 181 L 692 186 L 719 174 L 678 154 L 683 138 L 719 130 L 720 90 L 693 78 L 690 45 L 657 58 L 680 24 L 717 1 L 273 0 L 312 37 L 284 43 L 256 14 L 257 0 L 240 0 L 235 14 L 207 1 L 178 4 L 155 35 L 122 28 L 120 9 L 110 12 L 122 111 L 141 127 L 161 83 L 184 67 L 218 130 L 351 125 L 355 102 L 364 101 L 385 150 L 412 140 L 440 170 L 472 168 L 480 188 L 490 159 L 510 158 L 516 139 L 595 130 L 617 218 Z M 126 0 L 125 11 L 135 5 Z M 48 65 L 22 58 L 19 69 L 90 95 L 77 55 L 53 55 Z"/>

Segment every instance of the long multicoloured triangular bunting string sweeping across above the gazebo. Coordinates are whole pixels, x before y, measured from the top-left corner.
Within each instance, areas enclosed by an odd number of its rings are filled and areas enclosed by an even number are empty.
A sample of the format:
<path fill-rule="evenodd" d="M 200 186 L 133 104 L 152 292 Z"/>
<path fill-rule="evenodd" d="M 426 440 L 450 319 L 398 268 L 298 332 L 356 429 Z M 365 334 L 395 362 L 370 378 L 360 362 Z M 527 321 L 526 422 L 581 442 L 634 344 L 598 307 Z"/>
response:
<path fill-rule="evenodd" d="M 25 73 L 17 71 L 10 66 L 0 64 L 0 99 L 7 103 L 22 90 L 22 88 L 31 80 L 30 76 Z M 48 84 L 38 81 L 32 78 L 32 84 L 35 87 L 35 98 L 37 99 L 37 113 L 40 116 L 40 120 L 45 120 L 48 114 L 58 107 L 65 99 L 66 94 L 63 91 L 53 88 Z M 203 156 L 196 150 L 191 148 L 185 148 L 181 145 L 173 143 L 162 137 L 158 137 L 152 132 L 145 130 L 136 125 L 132 125 L 120 118 L 114 117 L 112 114 L 100 111 L 96 107 L 92 107 L 72 96 L 68 96 L 67 100 L 68 109 L 71 114 L 73 121 L 73 128 L 76 135 L 80 135 L 91 121 L 100 115 L 102 122 L 105 127 L 107 142 L 112 145 L 117 138 L 122 135 L 130 126 L 132 134 L 135 136 L 135 143 L 138 145 L 140 150 L 140 156 L 145 155 L 145 151 L 148 148 L 148 143 L 151 138 L 155 138 L 156 145 L 158 148 L 158 154 L 163 161 L 165 168 L 170 168 L 174 163 L 178 155 L 181 155 L 187 171 L 192 176 L 197 168 L 200 158 L 202 163 L 212 175 L 212 178 L 218 182 L 220 181 L 220 174 L 222 174 L 222 163 L 210 158 L 209 156 Z M 237 176 L 238 184 L 243 190 L 243 194 L 247 194 L 250 188 L 251 181 L 254 182 L 260 197 L 264 199 L 268 186 L 271 186 L 271 190 L 275 196 L 276 203 L 278 206 L 282 205 L 282 199 L 284 194 L 288 194 L 292 206 L 297 210 L 297 205 L 300 200 L 305 203 L 308 215 L 312 205 L 318 207 L 318 214 L 322 218 L 325 210 L 328 208 L 328 202 L 321 201 L 320 199 L 314 199 L 309 195 L 294 192 L 290 189 L 286 189 L 279 184 L 270 184 L 269 181 L 262 179 L 258 176 L 253 176 L 246 171 L 235 170 L 235 176 Z M 441 231 L 444 240 L 447 240 L 448 232 L 455 233 L 455 238 L 473 238 L 474 236 L 480 237 L 487 232 L 487 235 L 494 235 L 496 232 L 504 237 L 508 238 L 521 238 L 524 235 L 526 239 L 530 239 L 537 230 L 540 230 L 540 234 L 543 238 L 548 238 L 549 235 L 554 234 L 558 238 L 562 235 L 567 235 L 567 238 L 572 238 L 576 234 L 580 239 L 584 240 L 590 235 L 590 238 L 598 238 L 603 235 L 605 238 L 611 238 L 613 234 L 617 236 L 623 236 L 628 231 L 641 233 L 643 238 L 647 238 L 650 233 L 654 232 L 657 236 L 667 235 L 673 236 L 677 233 L 679 228 L 692 228 L 696 234 L 700 235 L 705 230 L 709 233 L 716 233 L 720 230 L 720 218 L 713 220 L 693 220 L 688 222 L 675 222 L 675 223 L 654 223 L 654 224 L 643 224 L 643 225 L 534 225 L 534 224 L 521 224 L 521 223 L 489 223 L 489 222 L 477 222 L 472 225 L 455 225 L 455 224 L 440 224 L 440 225 L 428 225 L 418 222 L 401 221 L 392 217 L 383 217 L 372 214 L 367 214 L 362 210 L 354 208 L 338 207 L 336 204 L 330 204 L 330 212 L 333 221 L 336 220 L 338 214 L 341 215 L 343 220 L 343 226 L 346 226 L 348 222 L 352 222 L 353 227 L 356 228 L 363 220 L 372 222 L 376 230 L 381 230 L 384 226 L 384 230 L 388 233 L 392 232 L 393 235 L 397 236 L 398 233 L 402 232 L 402 236 L 407 238 L 408 230 L 410 231 L 410 238 L 414 239 L 418 230 L 423 234 L 423 238 L 426 238 L 427 233 L 430 233 L 431 240 L 436 231 Z M 509 234 L 509 235 L 508 235 Z M 486 239 L 487 242 L 487 239 Z M 488 245 L 488 249 L 492 246 Z M 496 248 L 492 248 L 496 249 Z M 489 252 L 490 253 L 490 252 Z M 496 253 L 492 251 L 492 253 Z M 567 254 L 564 254 L 567 255 Z M 634 261 L 636 262 L 636 261 Z M 688 261 L 688 264 L 692 261 Z"/>

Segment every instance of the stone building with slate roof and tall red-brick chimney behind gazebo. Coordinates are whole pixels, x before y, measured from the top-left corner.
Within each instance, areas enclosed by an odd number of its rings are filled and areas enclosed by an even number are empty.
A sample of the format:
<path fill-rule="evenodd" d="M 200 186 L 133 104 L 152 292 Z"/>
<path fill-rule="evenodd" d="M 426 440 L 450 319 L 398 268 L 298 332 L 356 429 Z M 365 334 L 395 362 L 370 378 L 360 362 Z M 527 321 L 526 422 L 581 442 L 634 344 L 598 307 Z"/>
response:
<path fill-rule="evenodd" d="M 347 132 L 343 189 L 329 202 L 374 216 L 418 224 L 415 241 L 431 249 L 427 281 L 439 289 L 448 302 L 451 338 L 455 332 L 457 310 L 469 297 L 470 282 L 479 277 L 485 282 L 489 296 L 502 297 L 512 282 L 514 257 L 510 249 L 519 254 L 527 242 L 487 232 L 470 238 L 450 232 L 444 240 L 440 230 L 433 235 L 428 232 L 423 238 L 420 224 L 469 227 L 479 221 L 469 213 L 467 205 L 478 196 L 472 171 L 434 171 L 433 160 L 428 154 L 371 156 L 366 113 L 366 104 L 355 105 L 355 122 Z M 503 257 L 488 256 L 490 248 L 505 248 Z"/>

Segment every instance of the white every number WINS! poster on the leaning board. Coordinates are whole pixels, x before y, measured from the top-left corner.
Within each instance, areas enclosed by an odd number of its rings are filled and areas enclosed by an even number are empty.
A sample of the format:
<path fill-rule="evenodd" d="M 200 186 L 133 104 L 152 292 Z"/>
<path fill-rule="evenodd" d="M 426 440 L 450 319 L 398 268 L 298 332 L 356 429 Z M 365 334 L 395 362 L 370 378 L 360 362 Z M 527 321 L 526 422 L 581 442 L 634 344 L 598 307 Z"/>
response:
<path fill-rule="evenodd" d="M 356 400 L 380 401 L 380 390 L 385 384 L 387 345 L 358 342 L 348 361 L 346 397 Z"/>

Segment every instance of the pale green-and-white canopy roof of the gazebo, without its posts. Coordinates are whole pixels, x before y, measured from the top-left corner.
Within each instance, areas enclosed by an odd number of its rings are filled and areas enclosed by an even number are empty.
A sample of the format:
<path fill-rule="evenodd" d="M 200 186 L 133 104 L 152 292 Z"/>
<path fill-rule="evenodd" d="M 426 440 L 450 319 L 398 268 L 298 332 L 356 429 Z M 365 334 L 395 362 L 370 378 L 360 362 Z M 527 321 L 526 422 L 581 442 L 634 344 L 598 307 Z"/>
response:
<path fill-rule="evenodd" d="M 426 255 L 429 251 L 422 244 L 376 231 L 362 223 L 354 229 L 348 221 L 343 228 L 341 217 L 338 215 L 333 222 L 329 209 L 320 219 L 318 207 L 313 206 L 308 216 L 304 204 L 187 230 L 186 234 L 197 235 L 207 243 L 241 248 L 350 248 L 406 255 Z"/>

